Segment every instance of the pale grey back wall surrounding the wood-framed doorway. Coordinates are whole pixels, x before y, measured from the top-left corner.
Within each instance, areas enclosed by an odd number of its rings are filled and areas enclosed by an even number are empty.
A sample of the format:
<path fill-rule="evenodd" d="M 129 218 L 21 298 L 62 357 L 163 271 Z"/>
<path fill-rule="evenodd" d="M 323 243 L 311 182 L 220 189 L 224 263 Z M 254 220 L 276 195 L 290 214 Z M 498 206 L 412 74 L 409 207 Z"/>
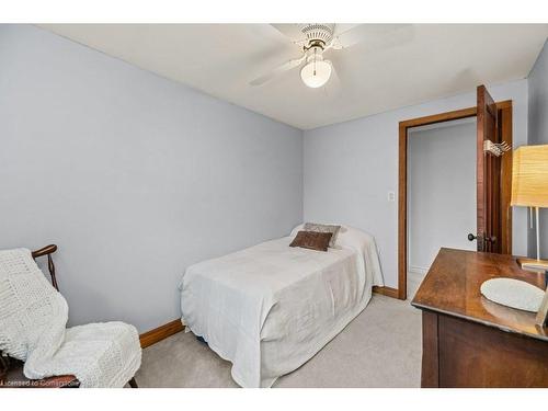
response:
<path fill-rule="evenodd" d="M 364 79 L 367 81 L 367 79 Z M 412 81 L 412 79 L 410 79 Z M 527 80 L 489 85 L 513 100 L 514 146 L 527 142 Z M 398 123 L 476 105 L 476 91 L 305 132 L 305 220 L 340 221 L 375 236 L 386 285 L 397 287 Z M 513 212 L 513 252 L 527 252 L 527 215 Z"/>

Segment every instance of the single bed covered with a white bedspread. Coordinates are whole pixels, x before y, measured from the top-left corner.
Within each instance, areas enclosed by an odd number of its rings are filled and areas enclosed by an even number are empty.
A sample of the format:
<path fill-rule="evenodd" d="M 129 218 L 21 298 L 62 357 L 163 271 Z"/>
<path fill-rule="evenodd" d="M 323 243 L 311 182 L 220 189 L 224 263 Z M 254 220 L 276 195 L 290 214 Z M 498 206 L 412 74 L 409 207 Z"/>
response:
<path fill-rule="evenodd" d="M 327 252 L 288 247 L 295 233 L 186 269 L 182 322 L 232 363 L 242 387 L 271 387 L 320 351 L 383 285 L 372 236 L 341 227 Z"/>

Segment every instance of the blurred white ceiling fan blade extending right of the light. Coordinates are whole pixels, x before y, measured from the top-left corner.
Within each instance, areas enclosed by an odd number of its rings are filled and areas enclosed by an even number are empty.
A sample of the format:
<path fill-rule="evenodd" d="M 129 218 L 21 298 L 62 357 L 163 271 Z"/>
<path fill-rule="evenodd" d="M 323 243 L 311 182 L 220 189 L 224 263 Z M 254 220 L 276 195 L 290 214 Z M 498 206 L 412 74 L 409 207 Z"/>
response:
<path fill-rule="evenodd" d="M 410 42 L 413 28 L 412 24 L 358 24 L 339 33 L 333 39 L 332 48 L 349 48 L 359 43 L 372 49 L 391 47 Z"/>

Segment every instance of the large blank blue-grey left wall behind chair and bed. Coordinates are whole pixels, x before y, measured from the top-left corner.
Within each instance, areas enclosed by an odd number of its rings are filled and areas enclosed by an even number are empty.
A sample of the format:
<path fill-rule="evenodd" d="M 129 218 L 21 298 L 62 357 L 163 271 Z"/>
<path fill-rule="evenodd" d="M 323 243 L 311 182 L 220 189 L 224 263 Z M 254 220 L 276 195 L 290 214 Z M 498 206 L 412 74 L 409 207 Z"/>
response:
<path fill-rule="evenodd" d="M 302 220 L 302 133 L 0 25 L 0 249 L 59 246 L 71 324 L 180 316 L 185 267 Z"/>

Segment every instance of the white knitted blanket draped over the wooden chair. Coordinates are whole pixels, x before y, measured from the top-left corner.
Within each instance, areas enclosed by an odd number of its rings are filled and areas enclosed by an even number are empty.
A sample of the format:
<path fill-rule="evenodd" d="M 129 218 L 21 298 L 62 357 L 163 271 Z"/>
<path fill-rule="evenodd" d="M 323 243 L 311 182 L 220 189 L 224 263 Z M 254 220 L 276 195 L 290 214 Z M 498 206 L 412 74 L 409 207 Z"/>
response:
<path fill-rule="evenodd" d="M 27 378 L 75 375 L 81 387 L 123 387 L 139 369 L 135 327 L 65 329 L 68 306 L 26 249 L 0 251 L 0 350 L 24 361 Z"/>

